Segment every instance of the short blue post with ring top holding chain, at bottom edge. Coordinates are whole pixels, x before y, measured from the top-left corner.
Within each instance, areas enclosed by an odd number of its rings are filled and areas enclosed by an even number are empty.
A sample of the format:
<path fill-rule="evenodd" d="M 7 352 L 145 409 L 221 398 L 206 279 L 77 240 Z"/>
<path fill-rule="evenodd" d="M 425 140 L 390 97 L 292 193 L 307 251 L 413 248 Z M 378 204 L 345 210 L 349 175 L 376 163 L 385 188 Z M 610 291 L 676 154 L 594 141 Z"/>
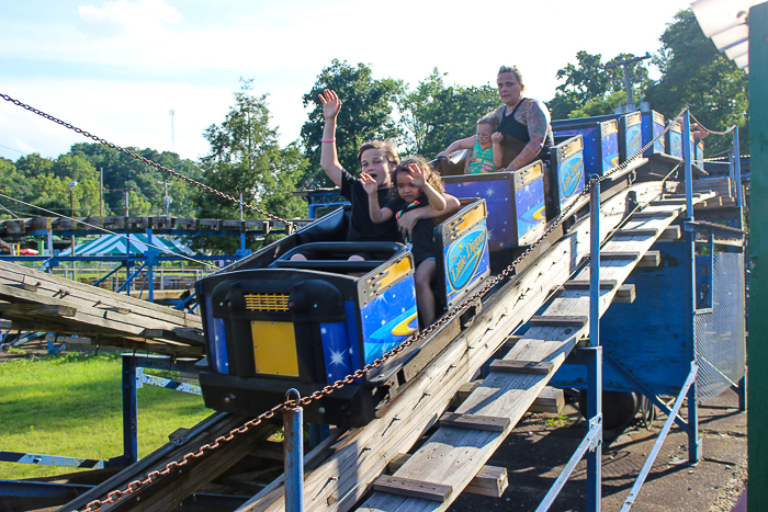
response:
<path fill-rule="evenodd" d="M 285 432 L 285 512 L 304 511 L 304 410 L 298 406 L 301 396 L 295 389 L 285 394 L 296 407 L 283 409 Z"/>

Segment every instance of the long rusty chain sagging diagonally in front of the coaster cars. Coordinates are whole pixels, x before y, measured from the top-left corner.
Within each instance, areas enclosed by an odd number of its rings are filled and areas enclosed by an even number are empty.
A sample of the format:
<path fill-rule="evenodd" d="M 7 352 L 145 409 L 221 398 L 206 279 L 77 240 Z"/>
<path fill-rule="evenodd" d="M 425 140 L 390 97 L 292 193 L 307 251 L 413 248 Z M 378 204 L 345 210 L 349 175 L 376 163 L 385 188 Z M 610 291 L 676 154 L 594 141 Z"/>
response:
<path fill-rule="evenodd" d="M 677 121 L 682 114 L 685 110 L 681 111 L 677 117 L 675 117 L 675 121 Z M 552 234 L 555 229 L 557 229 L 564 221 L 565 219 L 569 216 L 571 212 L 576 207 L 578 204 L 578 200 L 583 196 L 586 196 L 589 194 L 590 190 L 592 186 L 599 184 L 603 180 L 608 179 L 611 174 L 621 171 L 622 169 L 626 168 L 630 161 L 634 160 L 635 158 L 639 158 L 642 156 L 653 144 L 658 140 L 660 137 L 666 134 L 669 128 L 671 127 L 673 123 L 669 123 L 664 130 L 662 130 L 660 134 L 658 134 L 656 137 L 654 137 L 653 140 L 651 140 L 647 145 L 645 145 L 642 149 L 640 149 L 639 152 L 630 157 L 625 162 L 623 162 L 620 166 L 617 166 L 615 168 L 611 169 L 607 173 L 605 173 L 602 177 L 597 177 L 594 175 L 588 183 L 585 183 L 584 190 L 574 197 L 574 200 L 571 202 L 568 206 L 566 206 L 560 214 L 560 216 L 554 219 L 554 221 L 550 225 L 550 227 L 544 231 L 544 234 L 539 237 L 532 244 L 526 249 L 522 254 L 520 254 L 512 263 L 510 263 L 501 273 L 498 275 L 494 276 L 490 278 L 482 288 L 479 288 L 477 292 L 472 294 L 470 297 L 464 299 L 460 305 L 448 311 L 445 315 L 443 315 L 439 320 L 437 320 L 431 326 L 427 327 L 426 329 L 419 331 L 418 333 L 411 335 L 407 340 L 405 340 L 403 343 L 399 345 L 395 346 L 389 352 L 386 354 L 383 354 L 381 357 L 377 360 L 373 361 L 370 364 L 366 364 L 362 368 L 355 371 L 354 373 L 347 375 L 345 378 L 335 382 L 334 384 L 329 384 L 325 386 L 323 389 L 317 390 L 310 395 L 307 395 L 306 397 L 303 397 L 298 400 L 298 403 L 296 403 L 296 400 L 285 400 L 284 402 L 274 406 L 272 409 L 270 409 L 267 412 L 263 412 L 262 414 L 258 416 L 257 418 L 247 421 L 246 423 L 242 424 L 242 426 L 238 429 L 233 429 L 229 431 L 228 434 L 219 436 L 214 441 L 212 444 L 206 444 L 201 446 L 197 452 L 194 453 L 188 453 L 181 458 L 181 462 L 170 462 L 166 465 L 166 467 L 161 471 L 151 471 L 148 474 L 146 477 L 144 477 L 142 480 L 134 480 L 131 483 L 128 483 L 125 489 L 123 490 L 114 490 L 106 494 L 106 498 L 104 500 L 93 500 L 88 505 L 86 505 L 84 509 L 81 511 L 72 511 L 72 512 L 95 512 L 98 511 L 102 505 L 108 504 L 108 503 L 114 503 L 115 501 L 118 501 L 123 496 L 129 494 L 132 492 L 136 492 L 139 490 L 143 486 L 146 486 L 147 483 L 151 483 L 159 479 L 160 477 L 168 475 L 171 473 L 173 469 L 179 468 L 183 465 L 185 465 L 189 460 L 201 457 L 202 455 L 205 454 L 206 451 L 212 451 L 217 448 L 221 443 L 226 443 L 228 441 L 231 441 L 235 436 L 239 434 L 245 434 L 249 429 L 260 424 L 262 421 L 268 420 L 272 417 L 274 417 L 275 413 L 289 409 L 289 408 L 295 408 L 297 406 L 308 406 L 315 400 L 319 400 L 320 398 L 330 395 L 334 392 L 336 389 L 341 389 L 343 386 L 348 384 L 353 384 L 355 378 L 362 378 L 365 376 L 365 374 L 371 373 L 374 368 L 380 367 L 384 362 L 391 360 L 395 355 L 399 354 L 403 352 L 405 349 L 410 346 L 411 344 L 416 343 L 417 341 L 420 341 L 425 339 L 427 335 L 433 333 L 458 316 L 462 315 L 464 310 L 466 310 L 472 304 L 476 303 L 477 300 L 481 300 L 488 292 L 490 292 L 492 288 L 494 288 L 497 284 L 499 284 L 501 281 L 507 278 L 513 271 L 515 268 L 528 255 L 530 255 L 543 241 L 546 239 L 546 237 Z"/>

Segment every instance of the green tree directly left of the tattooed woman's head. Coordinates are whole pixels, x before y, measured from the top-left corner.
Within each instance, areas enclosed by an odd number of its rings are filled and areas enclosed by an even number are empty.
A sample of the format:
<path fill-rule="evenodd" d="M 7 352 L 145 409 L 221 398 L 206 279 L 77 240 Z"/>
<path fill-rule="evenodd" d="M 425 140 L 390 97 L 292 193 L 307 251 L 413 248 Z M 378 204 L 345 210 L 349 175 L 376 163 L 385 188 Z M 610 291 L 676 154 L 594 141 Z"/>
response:
<path fill-rule="evenodd" d="M 434 68 L 400 102 L 408 152 L 432 159 L 452 141 L 475 134 L 477 120 L 500 104 L 489 84 L 447 87 L 447 73 Z"/>

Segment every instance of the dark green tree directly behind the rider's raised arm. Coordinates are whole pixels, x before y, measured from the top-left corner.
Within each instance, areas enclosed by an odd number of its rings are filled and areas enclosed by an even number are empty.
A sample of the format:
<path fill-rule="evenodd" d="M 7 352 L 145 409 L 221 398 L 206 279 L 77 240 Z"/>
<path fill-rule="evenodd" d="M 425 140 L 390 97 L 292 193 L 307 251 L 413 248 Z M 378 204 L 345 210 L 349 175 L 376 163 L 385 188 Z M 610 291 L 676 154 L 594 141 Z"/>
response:
<path fill-rule="evenodd" d="M 305 187 L 334 186 L 320 169 L 320 140 L 325 121 L 317 96 L 324 89 L 335 90 L 343 102 L 336 128 L 336 147 L 339 161 L 349 172 L 357 172 L 358 148 L 365 140 L 397 138 L 402 135 L 392 112 L 403 95 L 403 82 L 392 78 L 374 80 L 371 68 L 364 64 L 353 67 L 347 61 L 334 59 L 317 77 L 312 91 L 304 95 L 304 106 L 313 106 L 309 121 L 302 126 L 302 141 L 309 160 L 302 178 Z"/>

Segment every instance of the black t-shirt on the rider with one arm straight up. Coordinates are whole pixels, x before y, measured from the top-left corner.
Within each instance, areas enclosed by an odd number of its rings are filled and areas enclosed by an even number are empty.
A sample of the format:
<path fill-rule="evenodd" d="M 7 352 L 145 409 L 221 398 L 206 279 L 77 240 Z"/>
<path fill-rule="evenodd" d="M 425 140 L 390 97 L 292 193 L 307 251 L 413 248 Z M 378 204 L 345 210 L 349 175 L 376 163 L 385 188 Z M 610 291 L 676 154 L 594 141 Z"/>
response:
<path fill-rule="evenodd" d="M 385 204 L 389 197 L 389 189 L 379 189 L 379 204 Z M 352 204 L 352 218 L 347 230 L 347 241 L 395 242 L 399 241 L 397 220 L 393 217 L 381 224 L 371 220 L 368 192 L 360 180 L 341 170 L 341 195 Z"/>

